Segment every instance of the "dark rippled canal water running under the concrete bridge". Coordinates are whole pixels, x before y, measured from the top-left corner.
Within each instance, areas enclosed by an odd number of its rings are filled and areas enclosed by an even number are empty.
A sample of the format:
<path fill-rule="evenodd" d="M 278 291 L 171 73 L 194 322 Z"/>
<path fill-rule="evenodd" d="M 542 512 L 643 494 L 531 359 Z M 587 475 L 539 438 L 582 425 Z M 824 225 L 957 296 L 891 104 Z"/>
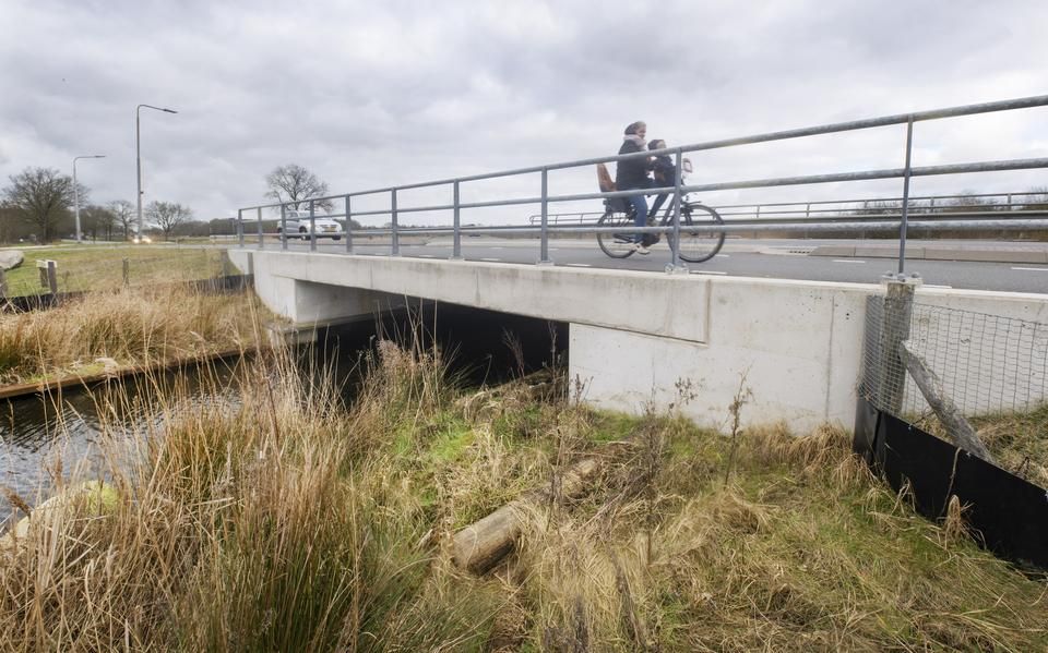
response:
<path fill-rule="evenodd" d="M 473 386 L 498 384 L 522 368 L 529 373 L 567 360 L 565 324 L 453 304 L 420 304 L 381 319 L 321 330 L 299 360 L 310 370 L 332 368 L 352 399 L 359 358 L 380 337 L 401 342 L 420 337 L 426 347 L 436 343 L 451 372 Z M 162 436 L 157 407 L 164 401 L 158 391 L 178 384 L 182 410 L 212 402 L 235 408 L 239 400 L 235 376 L 240 368 L 236 360 L 226 360 L 209 365 L 203 375 L 187 367 L 160 375 L 157 383 L 128 378 L 90 390 L 0 400 L 0 488 L 13 491 L 32 506 L 50 496 L 59 474 L 68 479 L 79 471 L 105 476 L 103 437 L 127 437 L 133 432 Z M 120 410 L 106 408 L 115 403 Z M 0 496 L 0 531 L 17 517 L 21 513 Z"/>

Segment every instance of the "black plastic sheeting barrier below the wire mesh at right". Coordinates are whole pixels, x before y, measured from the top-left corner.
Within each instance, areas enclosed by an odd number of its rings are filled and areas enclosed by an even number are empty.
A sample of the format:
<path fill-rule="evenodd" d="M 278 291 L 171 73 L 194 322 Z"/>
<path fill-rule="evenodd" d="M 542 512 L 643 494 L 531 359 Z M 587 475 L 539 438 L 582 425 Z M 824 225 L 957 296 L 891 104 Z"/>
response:
<path fill-rule="evenodd" d="M 1048 491 L 972 456 L 859 399 L 856 452 L 898 491 L 908 481 L 917 511 L 939 521 L 956 495 L 965 520 L 995 554 L 1048 569 Z"/>

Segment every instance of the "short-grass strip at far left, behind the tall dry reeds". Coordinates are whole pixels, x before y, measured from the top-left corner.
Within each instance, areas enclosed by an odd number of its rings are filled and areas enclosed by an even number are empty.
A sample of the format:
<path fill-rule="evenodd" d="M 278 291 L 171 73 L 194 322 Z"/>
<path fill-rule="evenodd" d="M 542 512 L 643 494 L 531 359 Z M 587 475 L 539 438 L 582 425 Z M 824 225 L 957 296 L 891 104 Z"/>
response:
<path fill-rule="evenodd" d="M 175 245 L 58 245 L 22 250 L 25 261 L 5 274 L 8 295 L 49 292 L 40 286 L 36 262 L 50 258 L 58 265 L 59 292 L 112 290 L 123 286 L 123 259 L 128 283 L 143 286 L 209 279 L 222 273 L 222 252 L 216 249 Z"/>

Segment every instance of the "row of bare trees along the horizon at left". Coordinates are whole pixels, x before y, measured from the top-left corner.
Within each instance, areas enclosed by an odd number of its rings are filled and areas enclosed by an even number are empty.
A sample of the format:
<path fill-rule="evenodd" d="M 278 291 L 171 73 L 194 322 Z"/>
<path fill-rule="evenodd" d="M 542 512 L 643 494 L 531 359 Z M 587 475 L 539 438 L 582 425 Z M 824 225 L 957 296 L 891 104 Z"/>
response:
<path fill-rule="evenodd" d="M 75 238 L 75 198 L 80 197 L 80 223 L 87 240 L 129 240 L 136 232 L 138 214 L 133 203 L 114 199 L 105 204 L 91 202 L 90 189 L 53 168 L 26 168 L 12 174 L 0 191 L 0 242 L 51 242 Z M 278 166 L 265 176 L 266 196 L 282 203 L 299 203 L 327 194 L 327 184 L 296 164 Z M 330 210 L 331 202 L 318 207 Z M 148 231 L 165 240 L 175 235 L 213 235 L 236 233 L 229 218 L 196 220 L 192 209 L 177 202 L 150 202 L 142 210 Z"/>

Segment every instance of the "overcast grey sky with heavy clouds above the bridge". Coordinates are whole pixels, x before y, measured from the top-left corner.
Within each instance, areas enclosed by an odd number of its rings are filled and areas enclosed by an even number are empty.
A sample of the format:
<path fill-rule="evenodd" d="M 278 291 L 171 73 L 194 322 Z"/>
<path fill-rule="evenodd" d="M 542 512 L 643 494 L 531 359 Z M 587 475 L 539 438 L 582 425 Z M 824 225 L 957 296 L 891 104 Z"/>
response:
<path fill-rule="evenodd" d="M 1046 25 L 1046 0 L 0 0 L 0 185 L 105 154 L 78 164 L 80 181 L 93 202 L 133 202 L 139 104 L 178 111 L 142 110 L 144 202 L 210 219 L 262 203 L 265 174 L 288 162 L 349 192 L 615 154 L 639 119 L 679 145 L 1043 95 Z M 903 144 L 904 128 L 885 128 L 693 155 L 692 179 L 894 168 Z M 1048 109 L 915 131 L 918 166 L 1026 157 L 1048 157 Z M 592 192 L 595 177 L 551 185 Z M 914 191 L 1046 185 L 1041 170 L 921 179 Z"/>

